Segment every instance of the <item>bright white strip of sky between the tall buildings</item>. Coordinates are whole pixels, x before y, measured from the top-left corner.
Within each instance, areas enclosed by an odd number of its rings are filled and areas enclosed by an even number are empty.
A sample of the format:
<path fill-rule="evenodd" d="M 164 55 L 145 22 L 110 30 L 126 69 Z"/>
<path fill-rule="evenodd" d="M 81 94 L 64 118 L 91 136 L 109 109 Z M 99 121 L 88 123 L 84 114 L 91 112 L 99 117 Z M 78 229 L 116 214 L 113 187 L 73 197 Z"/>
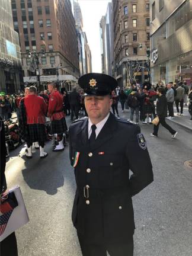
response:
<path fill-rule="evenodd" d="M 92 55 L 92 72 L 101 72 L 100 20 L 107 12 L 110 0 L 78 0 L 84 21 L 83 30 Z"/>

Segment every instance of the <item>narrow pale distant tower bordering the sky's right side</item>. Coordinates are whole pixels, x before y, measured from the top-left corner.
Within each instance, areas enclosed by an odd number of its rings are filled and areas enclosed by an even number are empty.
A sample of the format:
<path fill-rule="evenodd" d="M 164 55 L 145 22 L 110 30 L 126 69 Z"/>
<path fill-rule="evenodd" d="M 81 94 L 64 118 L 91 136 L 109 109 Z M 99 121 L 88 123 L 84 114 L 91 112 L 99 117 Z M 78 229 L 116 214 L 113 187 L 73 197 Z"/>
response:
<path fill-rule="evenodd" d="M 100 21 L 101 40 L 101 65 L 102 72 L 112 75 L 114 61 L 114 36 L 113 36 L 113 8 L 112 3 L 108 3 L 106 15 Z"/>

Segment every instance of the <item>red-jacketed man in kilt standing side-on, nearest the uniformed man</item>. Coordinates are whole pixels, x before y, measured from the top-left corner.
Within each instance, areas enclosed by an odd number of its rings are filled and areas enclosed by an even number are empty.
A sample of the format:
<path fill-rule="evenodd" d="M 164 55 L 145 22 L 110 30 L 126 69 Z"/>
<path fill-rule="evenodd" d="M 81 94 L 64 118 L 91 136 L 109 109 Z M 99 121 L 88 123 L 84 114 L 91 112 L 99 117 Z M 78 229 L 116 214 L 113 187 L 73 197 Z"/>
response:
<path fill-rule="evenodd" d="M 55 82 L 48 84 L 48 90 L 50 98 L 47 116 L 50 117 L 52 135 L 57 135 L 58 144 L 53 148 L 53 151 L 62 151 L 64 149 L 63 133 L 67 130 L 65 114 L 63 113 L 63 96 L 57 91 Z"/>

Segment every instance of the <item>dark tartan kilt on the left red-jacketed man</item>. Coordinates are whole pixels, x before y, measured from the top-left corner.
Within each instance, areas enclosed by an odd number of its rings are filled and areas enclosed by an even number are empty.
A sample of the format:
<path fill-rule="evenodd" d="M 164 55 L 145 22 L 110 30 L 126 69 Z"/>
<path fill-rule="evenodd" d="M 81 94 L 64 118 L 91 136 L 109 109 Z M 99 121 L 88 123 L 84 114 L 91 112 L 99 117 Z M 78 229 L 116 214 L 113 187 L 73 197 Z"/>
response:
<path fill-rule="evenodd" d="M 45 142 L 46 130 L 44 124 L 27 124 L 27 142 Z"/>

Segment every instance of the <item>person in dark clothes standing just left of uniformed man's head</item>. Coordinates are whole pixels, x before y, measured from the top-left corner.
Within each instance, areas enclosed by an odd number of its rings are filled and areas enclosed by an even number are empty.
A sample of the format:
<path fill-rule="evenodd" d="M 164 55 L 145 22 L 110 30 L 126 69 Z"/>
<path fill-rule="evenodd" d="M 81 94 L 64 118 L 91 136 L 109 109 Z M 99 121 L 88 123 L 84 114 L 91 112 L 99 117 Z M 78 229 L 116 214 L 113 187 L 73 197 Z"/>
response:
<path fill-rule="evenodd" d="M 69 104 L 71 107 L 71 121 L 73 121 L 73 116 L 75 119 L 79 117 L 79 105 L 80 105 L 80 95 L 76 91 L 76 88 L 73 88 L 73 91 L 69 94 Z"/>

